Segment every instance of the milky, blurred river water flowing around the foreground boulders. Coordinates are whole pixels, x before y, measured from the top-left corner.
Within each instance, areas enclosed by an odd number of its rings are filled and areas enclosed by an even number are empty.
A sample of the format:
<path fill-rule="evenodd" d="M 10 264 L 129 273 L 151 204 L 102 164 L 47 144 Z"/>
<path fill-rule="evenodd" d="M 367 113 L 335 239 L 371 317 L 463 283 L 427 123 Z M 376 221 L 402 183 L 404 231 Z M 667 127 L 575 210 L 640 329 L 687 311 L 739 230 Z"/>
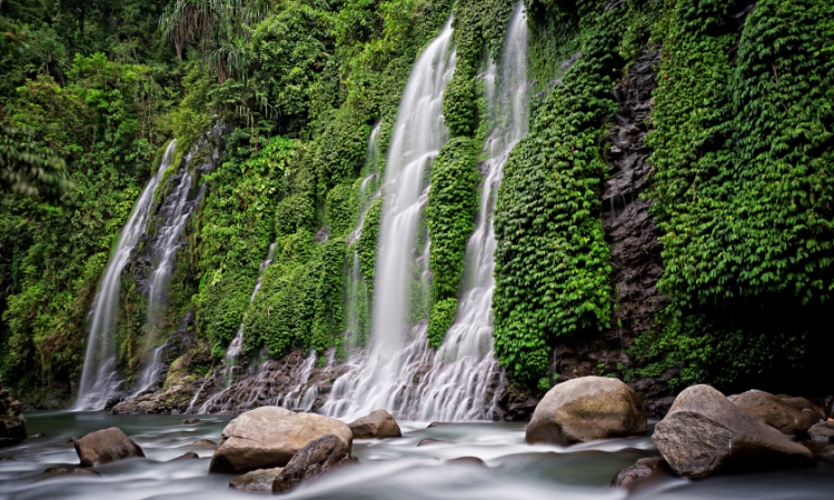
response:
<path fill-rule="evenodd" d="M 105 412 L 29 413 L 23 443 L 0 449 L 2 499 L 251 499 L 259 494 L 229 489 L 231 477 L 208 474 L 214 447 L 231 417 L 199 417 L 183 426 L 181 416 L 112 416 Z M 191 416 L 189 416 L 191 417 Z M 404 437 L 357 440 L 359 464 L 302 484 L 287 499 L 339 500 L 616 500 L 616 499 L 834 499 L 834 464 L 771 473 L 669 479 L 631 496 L 610 489 L 610 479 L 644 457 L 657 457 L 648 437 L 614 439 L 572 447 L 528 446 L 524 424 L 477 422 L 441 424 L 400 422 Z M 145 450 L 146 459 L 125 460 L 96 470 L 101 477 L 44 478 L 50 467 L 78 467 L 70 438 L 119 427 Z M 439 442 L 417 444 L 424 439 Z M 199 459 L 172 459 L 195 451 Z M 461 457 L 475 460 L 455 461 Z M 3 460 L 13 458 L 13 460 Z"/>

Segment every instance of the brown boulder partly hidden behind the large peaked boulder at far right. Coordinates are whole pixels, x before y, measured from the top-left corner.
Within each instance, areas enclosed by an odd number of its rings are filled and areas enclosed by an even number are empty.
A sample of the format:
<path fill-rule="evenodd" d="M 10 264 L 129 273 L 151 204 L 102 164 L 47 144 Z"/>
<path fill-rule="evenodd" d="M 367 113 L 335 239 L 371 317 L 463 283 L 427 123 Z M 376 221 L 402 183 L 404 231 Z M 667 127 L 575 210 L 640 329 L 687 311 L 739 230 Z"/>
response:
<path fill-rule="evenodd" d="M 804 398 L 788 402 L 770 392 L 753 389 L 727 399 L 747 417 L 774 427 L 783 434 L 804 436 L 811 426 L 823 419 L 813 409 L 797 408 L 803 404 L 801 400 Z"/>

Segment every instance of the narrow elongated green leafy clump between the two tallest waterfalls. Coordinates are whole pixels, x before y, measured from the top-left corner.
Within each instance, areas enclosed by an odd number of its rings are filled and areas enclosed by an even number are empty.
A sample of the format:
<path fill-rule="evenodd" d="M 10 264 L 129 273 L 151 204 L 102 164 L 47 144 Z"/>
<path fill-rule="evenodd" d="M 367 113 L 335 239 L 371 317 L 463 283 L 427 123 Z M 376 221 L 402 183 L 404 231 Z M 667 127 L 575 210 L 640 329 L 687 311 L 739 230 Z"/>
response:
<path fill-rule="evenodd" d="M 444 146 L 431 167 L 431 190 L 426 209 L 431 238 L 431 296 L 434 309 L 443 308 L 443 312 L 433 311 L 429 318 L 429 331 L 440 333 L 439 337 L 429 336 L 429 343 L 435 347 L 443 342 L 446 330 L 440 332 L 440 324 L 431 324 L 431 319 L 445 321 L 450 303 L 447 299 L 457 299 L 460 292 L 466 242 L 475 229 L 479 180 L 476 163 L 477 150 L 474 141 L 460 137 Z M 454 319 L 457 301 L 453 304 Z"/>

